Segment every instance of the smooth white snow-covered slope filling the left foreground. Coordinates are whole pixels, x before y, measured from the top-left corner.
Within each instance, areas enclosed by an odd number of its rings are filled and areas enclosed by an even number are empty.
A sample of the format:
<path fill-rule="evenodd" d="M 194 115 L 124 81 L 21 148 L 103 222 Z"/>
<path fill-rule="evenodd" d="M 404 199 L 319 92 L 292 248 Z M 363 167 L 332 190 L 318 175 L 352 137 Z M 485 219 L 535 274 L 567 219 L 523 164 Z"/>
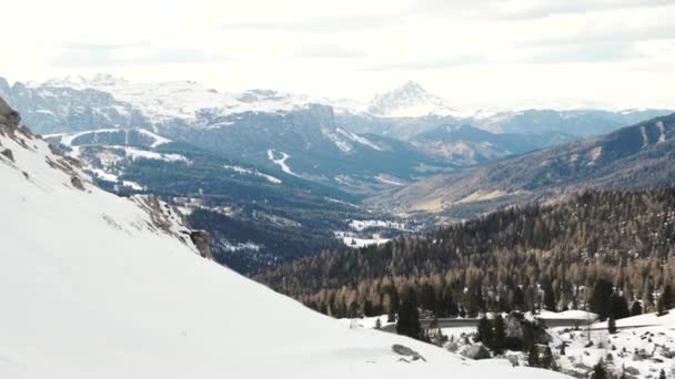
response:
<path fill-rule="evenodd" d="M 350 329 L 201 258 L 175 221 L 94 187 L 43 141 L 0 131 L 1 378 L 560 377 Z"/>

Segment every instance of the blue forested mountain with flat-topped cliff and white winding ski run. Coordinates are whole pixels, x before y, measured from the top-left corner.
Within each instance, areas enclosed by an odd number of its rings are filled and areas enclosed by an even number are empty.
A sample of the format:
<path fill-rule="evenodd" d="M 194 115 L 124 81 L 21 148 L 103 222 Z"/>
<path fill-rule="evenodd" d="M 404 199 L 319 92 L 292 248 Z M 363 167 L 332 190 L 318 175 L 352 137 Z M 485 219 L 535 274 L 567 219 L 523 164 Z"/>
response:
<path fill-rule="evenodd" d="M 205 116 L 209 124 L 165 133 L 213 152 L 355 194 L 375 193 L 454 167 L 393 139 L 338 126 L 333 109 Z"/>

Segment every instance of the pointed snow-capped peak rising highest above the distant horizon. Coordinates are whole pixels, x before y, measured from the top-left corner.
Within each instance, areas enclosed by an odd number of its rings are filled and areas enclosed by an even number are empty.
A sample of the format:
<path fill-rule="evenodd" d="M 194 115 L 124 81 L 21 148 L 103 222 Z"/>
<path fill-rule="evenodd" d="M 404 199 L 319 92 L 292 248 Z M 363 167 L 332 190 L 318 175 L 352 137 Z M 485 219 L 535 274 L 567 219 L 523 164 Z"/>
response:
<path fill-rule="evenodd" d="M 450 106 L 447 101 L 427 92 L 414 81 L 407 81 L 393 91 L 373 98 L 369 112 L 385 117 L 465 116 L 463 112 Z"/>

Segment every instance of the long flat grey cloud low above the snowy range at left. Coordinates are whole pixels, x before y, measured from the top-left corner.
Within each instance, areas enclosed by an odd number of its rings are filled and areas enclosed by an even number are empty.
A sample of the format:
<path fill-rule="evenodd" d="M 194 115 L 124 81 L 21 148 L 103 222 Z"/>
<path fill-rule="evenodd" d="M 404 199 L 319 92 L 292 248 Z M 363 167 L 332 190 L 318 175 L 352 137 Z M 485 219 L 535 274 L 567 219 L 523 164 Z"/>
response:
<path fill-rule="evenodd" d="M 71 44 L 50 63 L 64 68 L 143 64 L 188 64 L 231 61 L 232 58 L 194 48 L 151 48 L 148 44 Z"/>

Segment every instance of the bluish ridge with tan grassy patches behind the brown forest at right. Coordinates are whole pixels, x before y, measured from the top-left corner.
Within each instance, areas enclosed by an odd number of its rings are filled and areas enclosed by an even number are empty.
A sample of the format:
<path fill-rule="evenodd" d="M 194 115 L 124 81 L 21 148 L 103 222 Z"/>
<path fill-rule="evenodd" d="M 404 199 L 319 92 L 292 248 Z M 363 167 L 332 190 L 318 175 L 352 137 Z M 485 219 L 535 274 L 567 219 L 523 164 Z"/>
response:
<path fill-rule="evenodd" d="M 555 199 L 581 188 L 663 187 L 675 183 L 674 151 L 675 114 L 423 180 L 371 203 L 389 211 L 469 218 L 510 204 Z"/>

